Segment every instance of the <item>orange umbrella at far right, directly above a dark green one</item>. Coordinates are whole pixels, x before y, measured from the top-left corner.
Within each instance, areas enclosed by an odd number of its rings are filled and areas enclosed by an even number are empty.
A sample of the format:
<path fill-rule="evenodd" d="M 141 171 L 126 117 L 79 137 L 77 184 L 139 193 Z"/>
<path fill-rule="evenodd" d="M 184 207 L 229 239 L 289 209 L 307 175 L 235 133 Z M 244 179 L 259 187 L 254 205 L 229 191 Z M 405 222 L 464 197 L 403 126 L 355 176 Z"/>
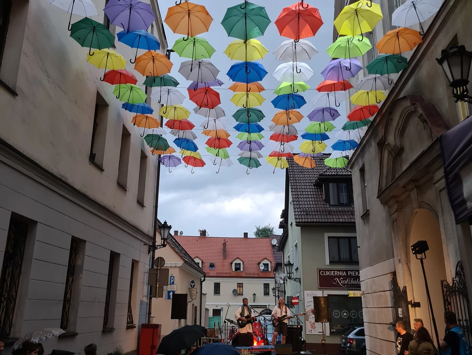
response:
<path fill-rule="evenodd" d="M 423 40 L 418 31 L 411 28 L 400 27 L 388 31 L 376 44 L 379 53 L 402 54 L 413 50 Z"/>

